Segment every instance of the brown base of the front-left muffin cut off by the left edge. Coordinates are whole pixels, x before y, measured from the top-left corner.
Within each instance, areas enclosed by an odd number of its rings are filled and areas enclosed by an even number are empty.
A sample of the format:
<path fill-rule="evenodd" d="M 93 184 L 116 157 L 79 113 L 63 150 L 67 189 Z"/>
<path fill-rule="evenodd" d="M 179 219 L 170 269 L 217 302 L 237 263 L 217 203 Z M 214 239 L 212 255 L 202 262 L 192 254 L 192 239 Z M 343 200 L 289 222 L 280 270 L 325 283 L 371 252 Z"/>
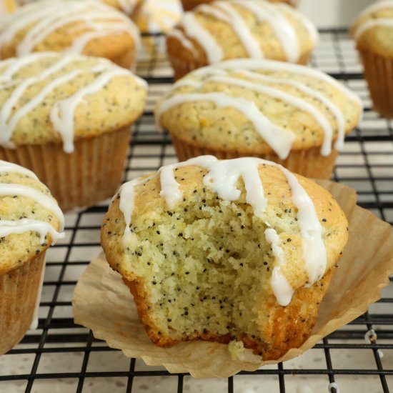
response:
<path fill-rule="evenodd" d="M 45 252 L 0 275 L 0 355 L 18 344 L 34 319 Z"/>

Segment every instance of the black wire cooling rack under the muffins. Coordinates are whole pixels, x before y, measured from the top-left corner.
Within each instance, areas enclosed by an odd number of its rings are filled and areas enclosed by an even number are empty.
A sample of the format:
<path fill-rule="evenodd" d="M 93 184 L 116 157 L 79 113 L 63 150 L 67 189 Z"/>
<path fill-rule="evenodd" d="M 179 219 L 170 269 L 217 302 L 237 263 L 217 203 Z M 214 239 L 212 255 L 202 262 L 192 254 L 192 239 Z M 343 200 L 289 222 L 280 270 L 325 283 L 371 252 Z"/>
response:
<path fill-rule="evenodd" d="M 124 180 L 176 161 L 169 137 L 156 133 L 153 118 L 154 102 L 171 84 L 164 37 L 144 36 L 144 44 L 137 73 L 150 84 L 149 100 L 134 126 Z M 364 119 L 347 137 L 334 180 L 357 189 L 359 204 L 392 224 L 392 122 L 372 111 L 362 69 L 345 30 L 322 31 L 312 62 L 356 91 L 365 104 Z M 164 368 L 128 359 L 94 339 L 88 329 L 74 324 L 71 297 L 81 273 L 99 254 L 99 227 L 107 202 L 66 215 L 66 240 L 48 253 L 39 327 L 0 357 L 1 393 L 386 393 L 389 386 L 393 391 L 393 284 L 366 314 L 301 357 L 229 379 L 169 374 Z"/>

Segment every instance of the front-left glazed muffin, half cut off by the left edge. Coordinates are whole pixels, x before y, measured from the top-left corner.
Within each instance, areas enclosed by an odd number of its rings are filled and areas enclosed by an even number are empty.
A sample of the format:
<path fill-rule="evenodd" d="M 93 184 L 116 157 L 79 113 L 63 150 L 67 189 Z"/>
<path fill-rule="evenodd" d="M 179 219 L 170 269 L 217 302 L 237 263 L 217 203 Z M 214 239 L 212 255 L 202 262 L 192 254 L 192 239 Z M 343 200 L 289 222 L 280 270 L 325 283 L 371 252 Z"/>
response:
<path fill-rule="evenodd" d="M 19 165 L 0 161 L 0 355 L 34 319 L 46 249 L 64 237 L 64 217 L 49 189 Z"/>

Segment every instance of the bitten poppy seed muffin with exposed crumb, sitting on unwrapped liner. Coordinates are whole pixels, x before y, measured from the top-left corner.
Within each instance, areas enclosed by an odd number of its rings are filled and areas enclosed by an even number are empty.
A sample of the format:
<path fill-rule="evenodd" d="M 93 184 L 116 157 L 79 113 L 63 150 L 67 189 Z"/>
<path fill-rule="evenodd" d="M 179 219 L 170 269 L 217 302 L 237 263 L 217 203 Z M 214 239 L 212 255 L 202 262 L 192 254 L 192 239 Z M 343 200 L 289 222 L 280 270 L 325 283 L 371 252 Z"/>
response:
<path fill-rule="evenodd" d="M 152 342 L 235 341 L 274 360 L 311 334 L 347 226 L 282 166 L 200 156 L 124 184 L 101 244 Z"/>

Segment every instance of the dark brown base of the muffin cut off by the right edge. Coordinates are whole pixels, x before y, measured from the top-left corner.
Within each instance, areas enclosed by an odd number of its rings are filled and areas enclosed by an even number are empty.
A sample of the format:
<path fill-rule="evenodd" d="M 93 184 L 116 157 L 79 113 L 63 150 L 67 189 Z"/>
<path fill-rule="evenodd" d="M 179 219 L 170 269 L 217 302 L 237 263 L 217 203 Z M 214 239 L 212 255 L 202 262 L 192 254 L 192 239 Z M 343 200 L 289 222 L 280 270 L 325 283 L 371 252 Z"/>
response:
<path fill-rule="evenodd" d="M 359 49 L 374 110 L 393 119 L 393 59 Z"/>

